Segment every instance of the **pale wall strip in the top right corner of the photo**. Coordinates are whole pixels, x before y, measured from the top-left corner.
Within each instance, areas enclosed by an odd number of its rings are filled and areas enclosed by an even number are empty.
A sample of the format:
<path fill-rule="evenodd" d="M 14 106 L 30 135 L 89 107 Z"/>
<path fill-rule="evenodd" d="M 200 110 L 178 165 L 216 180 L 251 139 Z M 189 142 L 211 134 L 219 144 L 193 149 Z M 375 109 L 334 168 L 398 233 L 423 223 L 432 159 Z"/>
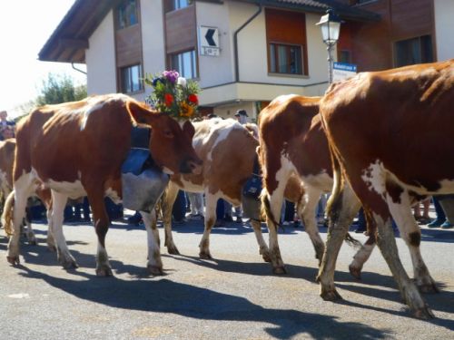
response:
<path fill-rule="evenodd" d="M 454 58 L 454 1 L 434 0 L 437 59 Z"/>

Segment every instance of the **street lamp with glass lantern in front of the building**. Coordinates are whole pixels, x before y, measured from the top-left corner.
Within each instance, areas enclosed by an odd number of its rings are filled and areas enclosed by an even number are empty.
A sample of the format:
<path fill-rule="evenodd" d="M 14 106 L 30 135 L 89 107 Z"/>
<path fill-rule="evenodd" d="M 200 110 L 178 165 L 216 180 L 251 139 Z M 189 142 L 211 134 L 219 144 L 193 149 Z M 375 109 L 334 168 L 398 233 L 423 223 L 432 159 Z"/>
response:
<path fill-rule="evenodd" d="M 320 22 L 317 25 L 321 26 L 321 35 L 323 43 L 326 44 L 328 51 L 328 83 L 332 83 L 332 50 L 339 40 L 339 33 L 341 32 L 341 18 L 334 13 L 330 8 L 326 11 L 326 15 L 322 15 Z"/>

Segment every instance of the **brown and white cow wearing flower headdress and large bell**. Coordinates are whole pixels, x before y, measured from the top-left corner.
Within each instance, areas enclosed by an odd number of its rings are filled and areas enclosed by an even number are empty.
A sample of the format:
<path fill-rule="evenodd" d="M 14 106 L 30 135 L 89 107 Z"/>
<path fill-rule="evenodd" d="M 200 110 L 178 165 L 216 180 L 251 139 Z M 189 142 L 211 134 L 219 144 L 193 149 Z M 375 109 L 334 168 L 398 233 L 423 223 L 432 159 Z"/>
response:
<path fill-rule="evenodd" d="M 62 231 L 66 200 L 86 195 L 98 237 L 96 274 L 112 275 L 105 249 L 109 219 L 104 196 L 122 197 L 120 171 L 131 147 L 131 130 L 136 122 L 152 127 L 150 151 L 163 170 L 169 173 L 200 171 L 202 161 L 192 148 L 192 123 L 178 122 L 166 114 L 153 112 L 123 94 L 46 105 L 18 124 L 15 191 L 14 198 L 9 197 L 10 201 L 15 201 L 14 232 L 7 251 L 10 263 L 19 263 L 18 228 L 26 199 L 36 183 L 43 183 L 52 190 L 52 231 L 60 262 L 64 267 L 76 266 Z M 5 209 L 5 213 L 11 213 L 11 209 Z M 148 234 L 147 267 L 159 274 L 163 264 L 157 239 L 153 237 L 151 214 L 143 213 L 143 217 Z"/>

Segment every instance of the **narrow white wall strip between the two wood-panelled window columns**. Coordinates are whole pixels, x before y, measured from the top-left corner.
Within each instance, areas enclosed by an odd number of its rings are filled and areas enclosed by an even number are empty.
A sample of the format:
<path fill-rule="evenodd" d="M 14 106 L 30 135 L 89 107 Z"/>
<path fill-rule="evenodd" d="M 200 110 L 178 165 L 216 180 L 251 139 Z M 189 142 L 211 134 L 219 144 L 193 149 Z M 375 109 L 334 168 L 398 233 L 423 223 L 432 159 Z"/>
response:
<path fill-rule="evenodd" d="M 141 24 L 143 46 L 143 75 L 156 74 L 165 70 L 165 42 L 163 27 L 163 2 L 141 1 Z M 138 100 L 151 93 L 145 86 L 145 92 L 136 95 Z"/>

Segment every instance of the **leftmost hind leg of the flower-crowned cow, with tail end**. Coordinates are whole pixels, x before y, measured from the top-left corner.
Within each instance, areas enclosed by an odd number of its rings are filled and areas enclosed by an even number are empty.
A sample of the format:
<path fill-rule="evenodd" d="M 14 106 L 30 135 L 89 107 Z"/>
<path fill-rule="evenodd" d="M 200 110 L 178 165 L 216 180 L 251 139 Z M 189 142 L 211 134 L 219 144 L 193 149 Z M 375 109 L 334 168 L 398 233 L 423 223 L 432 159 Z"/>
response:
<path fill-rule="evenodd" d="M 25 207 L 27 199 L 33 191 L 33 177 L 30 173 L 22 175 L 15 181 L 15 190 L 11 193 L 5 202 L 4 215 L 5 219 L 11 219 L 12 236 L 9 238 L 6 259 L 12 265 L 19 264 L 19 239 L 21 236 L 21 224 L 25 216 Z M 6 221 L 6 223 L 8 223 Z M 11 220 L 9 221 L 11 223 Z M 7 229 L 7 226 L 4 226 Z"/>

